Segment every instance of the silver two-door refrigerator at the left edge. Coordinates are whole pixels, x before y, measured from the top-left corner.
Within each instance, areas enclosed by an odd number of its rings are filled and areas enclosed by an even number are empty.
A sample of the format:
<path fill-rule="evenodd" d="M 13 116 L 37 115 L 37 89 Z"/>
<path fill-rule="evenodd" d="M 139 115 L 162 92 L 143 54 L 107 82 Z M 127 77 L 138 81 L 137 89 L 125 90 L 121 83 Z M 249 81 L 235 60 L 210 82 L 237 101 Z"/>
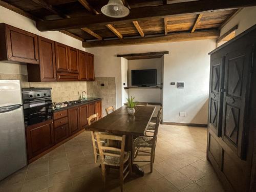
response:
<path fill-rule="evenodd" d="M 19 80 L 0 80 L 0 180 L 27 165 Z"/>

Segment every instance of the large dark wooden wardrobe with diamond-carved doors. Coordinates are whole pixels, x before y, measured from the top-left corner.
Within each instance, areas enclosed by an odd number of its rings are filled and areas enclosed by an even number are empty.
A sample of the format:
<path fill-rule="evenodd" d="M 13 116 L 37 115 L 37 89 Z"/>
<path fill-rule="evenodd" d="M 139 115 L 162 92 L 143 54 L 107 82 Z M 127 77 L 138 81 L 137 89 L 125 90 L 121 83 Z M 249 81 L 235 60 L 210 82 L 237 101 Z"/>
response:
<path fill-rule="evenodd" d="M 210 54 L 207 158 L 227 191 L 256 191 L 256 25 Z"/>

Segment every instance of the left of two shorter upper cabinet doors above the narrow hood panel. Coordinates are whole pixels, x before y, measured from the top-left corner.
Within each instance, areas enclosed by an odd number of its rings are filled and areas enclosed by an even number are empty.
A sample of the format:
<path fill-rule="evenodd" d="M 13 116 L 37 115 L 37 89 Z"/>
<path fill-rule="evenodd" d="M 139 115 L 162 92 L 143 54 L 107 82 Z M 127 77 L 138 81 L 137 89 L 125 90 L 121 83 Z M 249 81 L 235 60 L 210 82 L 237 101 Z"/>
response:
<path fill-rule="evenodd" d="M 68 46 L 55 42 L 56 71 L 69 72 Z"/>

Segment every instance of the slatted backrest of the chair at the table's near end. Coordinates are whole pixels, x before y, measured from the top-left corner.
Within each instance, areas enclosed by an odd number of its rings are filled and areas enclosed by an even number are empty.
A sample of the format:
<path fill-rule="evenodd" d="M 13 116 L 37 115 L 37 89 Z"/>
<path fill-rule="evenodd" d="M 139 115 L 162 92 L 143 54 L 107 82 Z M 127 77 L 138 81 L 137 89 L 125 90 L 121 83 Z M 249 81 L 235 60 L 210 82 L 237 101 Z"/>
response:
<path fill-rule="evenodd" d="M 125 135 L 123 136 L 117 136 L 117 135 L 106 135 L 104 133 L 95 132 L 97 144 L 99 148 L 99 155 L 101 158 L 101 162 L 104 162 L 104 156 L 113 156 L 113 157 L 119 157 L 120 158 L 120 164 L 123 163 L 123 157 L 124 157 L 124 145 L 125 145 Z M 108 139 L 113 141 L 121 141 L 121 148 L 117 147 L 110 147 L 110 146 L 102 146 L 102 142 L 100 140 L 102 139 Z"/>

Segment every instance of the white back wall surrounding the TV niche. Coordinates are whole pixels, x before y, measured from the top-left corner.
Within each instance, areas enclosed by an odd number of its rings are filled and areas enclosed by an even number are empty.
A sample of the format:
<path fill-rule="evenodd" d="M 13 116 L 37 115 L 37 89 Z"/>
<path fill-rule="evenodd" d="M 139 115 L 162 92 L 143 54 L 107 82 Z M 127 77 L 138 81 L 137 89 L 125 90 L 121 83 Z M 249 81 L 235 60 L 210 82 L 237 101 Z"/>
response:
<path fill-rule="evenodd" d="M 117 54 L 169 51 L 164 56 L 163 120 L 166 122 L 207 124 L 209 65 L 208 53 L 216 48 L 216 40 L 170 42 L 164 44 L 87 48 L 95 56 L 96 77 L 116 77 L 117 108 L 122 105 L 121 58 Z M 178 90 L 170 82 L 185 81 Z M 179 117 L 186 112 L 186 117 Z"/>

